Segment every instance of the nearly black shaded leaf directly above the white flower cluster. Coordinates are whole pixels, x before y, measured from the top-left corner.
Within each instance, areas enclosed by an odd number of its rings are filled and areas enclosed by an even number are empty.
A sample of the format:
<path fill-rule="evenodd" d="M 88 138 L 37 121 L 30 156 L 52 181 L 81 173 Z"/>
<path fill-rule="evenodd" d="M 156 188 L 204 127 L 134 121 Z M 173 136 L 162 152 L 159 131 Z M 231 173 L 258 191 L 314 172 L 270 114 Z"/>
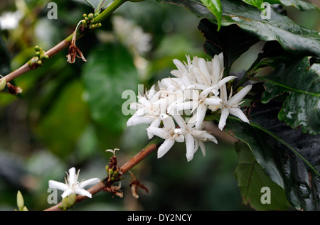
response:
<path fill-rule="evenodd" d="M 213 57 L 223 52 L 226 74 L 233 62 L 259 41 L 236 25 L 225 26 L 217 31 L 217 26 L 206 18 L 200 21 L 198 28 L 206 38 L 204 49 L 208 55 Z"/>

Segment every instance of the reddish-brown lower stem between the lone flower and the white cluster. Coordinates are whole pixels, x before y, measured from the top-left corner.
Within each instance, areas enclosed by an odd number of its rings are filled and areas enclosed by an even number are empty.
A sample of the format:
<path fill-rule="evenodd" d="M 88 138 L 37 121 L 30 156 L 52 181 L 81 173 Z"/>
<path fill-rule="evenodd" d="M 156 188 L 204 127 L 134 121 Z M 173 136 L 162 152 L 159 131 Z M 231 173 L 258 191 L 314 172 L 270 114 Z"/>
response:
<path fill-rule="evenodd" d="M 159 143 L 161 143 L 160 139 L 156 139 L 156 141 L 154 141 L 153 143 L 150 143 L 149 146 L 146 146 L 146 148 L 140 150 L 139 153 L 137 153 L 137 155 L 134 155 L 134 157 L 131 160 L 127 161 L 127 163 L 124 163 L 124 165 L 122 165 L 122 167 L 120 168 L 122 173 L 124 174 L 125 172 L 128 172 L 131 168 L 133 168 L 135 165 L 140 163 L 144 158 L 146 158 L 146 156 L 153 153 L 154 150 L 158 148 Z M 105 183 L 100 181 L 99 183 L 97 183 L 97 185 L 91 187 L 87 191 L 93 195 L 93 194 L 97 194 L 97 192 L 102 191 L 105 187 L 106 187 Z M 83 199 L 86 199 L 86 198 L 87 196 L 78 195 L 77 198 L 75 199 L 75 202 L 77 203 L 81 202 Z M 45 209 L 45 211 L 62 211 L 63 209 L 59 208 L 60 205 L 61 205 L 61 202 L 54 205 L 53 207 Z"/>

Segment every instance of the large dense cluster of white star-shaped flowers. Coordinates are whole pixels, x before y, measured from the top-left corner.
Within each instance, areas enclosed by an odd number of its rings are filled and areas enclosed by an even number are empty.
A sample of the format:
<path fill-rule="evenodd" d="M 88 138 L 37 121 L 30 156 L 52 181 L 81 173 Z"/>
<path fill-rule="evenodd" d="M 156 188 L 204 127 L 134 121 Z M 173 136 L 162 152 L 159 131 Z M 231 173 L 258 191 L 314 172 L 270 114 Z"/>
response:
<path fill-rule="evenodd" d="M 203 130 L 208 110 L 221 114 L 220 130 L 229 114 L 249 123 L 239 105 L 252 85 L 242 88 L 234 96 L 231 90 L 228 99 L 225 84 L 236 77 L 223 78 L 223 53 L 215 55 L 212 61 L 201 57 L 191 60 L 187 56 L 187 62 L 174 60 L 174 64 L 178 70 L 171 71 L 174 77 L 159 81 L 159 91 L 154 85 L 144 96 L 138 96 L 138 102 L 130 105 L 136 112 L 127 121 L 127 126 L 150 124 L 146 128 L 148 137 L 155 135 L 165 139 L 158 149 L 158 158 L 166 154 L 175 142 L 185 142 L 186 158 L 190 161 L 199 147 L 203 155 L 206 154 L 205 141 L 217 143 L 214 136 Z M 183 114 L 190 117 L 183 119 Z"/>

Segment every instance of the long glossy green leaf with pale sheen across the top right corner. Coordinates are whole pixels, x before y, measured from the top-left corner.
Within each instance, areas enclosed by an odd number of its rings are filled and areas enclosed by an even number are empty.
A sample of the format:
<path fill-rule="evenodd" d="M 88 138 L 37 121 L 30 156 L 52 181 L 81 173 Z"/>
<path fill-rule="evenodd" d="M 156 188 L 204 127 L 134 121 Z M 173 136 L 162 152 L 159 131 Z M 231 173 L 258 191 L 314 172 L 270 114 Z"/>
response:
<path fill-rule="evenodd" d="M 200 18 L 208 18 L 213 23 L 217 19 L 213 14 L 196 0 L 159 0 L 178 6 L 186 7 Z M 317 31 L 299 26 L 287 16 L 271 9 L 271 19 L 261 18 L 259 9 L 243 4 L 242 1 L 225 0 L 222 4 L 222 26 L 236 24 L 242 30 L 260 40 L 277 40 L 284 50 L 295 55 L 320 56 L 320 35 Z"/>

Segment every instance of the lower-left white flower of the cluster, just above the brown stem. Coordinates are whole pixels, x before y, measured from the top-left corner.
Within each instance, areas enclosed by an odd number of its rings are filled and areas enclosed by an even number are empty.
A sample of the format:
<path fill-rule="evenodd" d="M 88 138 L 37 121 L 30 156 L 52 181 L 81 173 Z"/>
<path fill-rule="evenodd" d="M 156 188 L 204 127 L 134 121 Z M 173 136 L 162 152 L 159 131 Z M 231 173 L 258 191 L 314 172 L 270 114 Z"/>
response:
<path fill-rule="evenodd" d="M 166 154 L 172 146 L 174 146 L 175 142 L 183 142 L 184 137 L 180 133 L 176 133 L 176 125 L 174 124 L 174 120 L 171 116 L 166 117 L 166 119 L 163 120 L 164 127 L 149 127 L 146 128 L 146 130 L 149 133 L 152 133 L 155 136 L 159 136 L 160 138 L 165 139 L 164 143 L 161 144 L 161 146 L 158 149 L 158 158 L 161 158 Z"/>

